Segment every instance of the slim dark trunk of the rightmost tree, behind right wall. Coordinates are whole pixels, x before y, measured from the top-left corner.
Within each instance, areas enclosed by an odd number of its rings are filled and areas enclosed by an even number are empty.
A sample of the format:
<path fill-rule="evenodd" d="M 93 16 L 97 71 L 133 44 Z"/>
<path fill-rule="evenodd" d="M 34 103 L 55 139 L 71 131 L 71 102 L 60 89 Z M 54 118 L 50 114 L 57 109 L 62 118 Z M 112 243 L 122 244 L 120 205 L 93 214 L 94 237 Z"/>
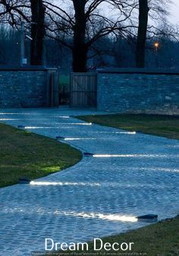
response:
<path fill-rule="evenodd" d="M 148 0 L 139 0 L 139 27 L 137 34 L 137 52 L 136 66 L 137 68 L 145 68 L 145 53 L 146 53 L 146 30 L 148 25 Z"/>

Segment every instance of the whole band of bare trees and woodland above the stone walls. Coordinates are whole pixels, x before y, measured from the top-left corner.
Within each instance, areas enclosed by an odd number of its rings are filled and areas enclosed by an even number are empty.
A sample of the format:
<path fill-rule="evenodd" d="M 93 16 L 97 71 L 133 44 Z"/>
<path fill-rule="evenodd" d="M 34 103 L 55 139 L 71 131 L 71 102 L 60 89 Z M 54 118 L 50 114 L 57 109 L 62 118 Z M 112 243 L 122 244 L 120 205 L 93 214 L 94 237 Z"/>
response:
<path fill-rule="evenodd" d="M 73 71 L 106 66 L 172 68 L 177 65 L 177 30 L 167 21 L 170 2 L 0 0 L 0 62 L 19 63 L 23 25 L 30 65 L 46 62 Z"/>

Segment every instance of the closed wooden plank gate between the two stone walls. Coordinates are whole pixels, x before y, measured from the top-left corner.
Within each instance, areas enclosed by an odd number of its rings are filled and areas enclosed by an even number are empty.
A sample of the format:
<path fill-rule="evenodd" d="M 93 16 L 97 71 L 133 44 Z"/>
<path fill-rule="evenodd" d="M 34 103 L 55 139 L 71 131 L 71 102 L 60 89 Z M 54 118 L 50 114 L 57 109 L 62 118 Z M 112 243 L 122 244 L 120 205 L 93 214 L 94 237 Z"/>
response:
<path fill-rule="evenodd" d="M 71 107 L 96 107 L 97 74 L 71 73 Z"/>

